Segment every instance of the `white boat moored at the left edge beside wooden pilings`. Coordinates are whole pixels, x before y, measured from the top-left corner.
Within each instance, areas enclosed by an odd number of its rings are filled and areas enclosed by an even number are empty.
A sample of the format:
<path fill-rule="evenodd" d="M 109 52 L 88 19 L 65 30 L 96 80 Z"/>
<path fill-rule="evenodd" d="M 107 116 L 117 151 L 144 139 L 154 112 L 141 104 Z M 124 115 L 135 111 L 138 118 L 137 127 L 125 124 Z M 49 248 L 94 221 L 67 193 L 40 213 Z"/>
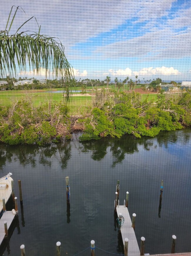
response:
<path fill-rule="evenodd" d="M 5 204 L 9 200 L 12 194 L 11 188 L 11 180 L 13 180 L 10 176 L 12 175 L 9 172 L 6 176 L 0 178 L 0 213 L 3 210 L 3 198 L 5 198 Z"/>

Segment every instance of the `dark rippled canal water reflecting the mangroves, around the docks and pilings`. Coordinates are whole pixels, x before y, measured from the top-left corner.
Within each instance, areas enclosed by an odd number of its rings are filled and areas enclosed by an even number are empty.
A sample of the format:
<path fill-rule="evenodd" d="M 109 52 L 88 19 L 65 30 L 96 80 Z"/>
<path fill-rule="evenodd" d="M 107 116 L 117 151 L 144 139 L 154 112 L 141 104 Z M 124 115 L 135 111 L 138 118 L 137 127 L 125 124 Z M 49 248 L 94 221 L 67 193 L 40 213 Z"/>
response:
<path fill-rule="evenodd" d="M 12 172 L 23 190 L 23 214 L 13 227 L 9 255 L 76 255 L 95 245 L 122 254 L 114 230 L 116 182 L 120 180 L 120 204 L 129 191 L 129 212 L 137 214 L 135 234 L 145 237 L 145 253 L 190 252 L 191 243 L 191 130 L 160 133 L 155 138 L 103 138 L 37 146 L 0 146 L 0 175 Z M 65 177 L 70 177 L 70 211 L 66 205 Z M 164 193 L 158 216 L 160 182 Z M 4 246 L 7 244 L 4 244 Z M 1 248 L 2 249 L 2 248 Z M 2 255 L 2 254 L 1 254 Z M 7 248 L 4 255 L 8 255 Z M 78 255 L 90 255 L 90 249 Z M 110 255 L 96 249 L 96 255 Z"/>

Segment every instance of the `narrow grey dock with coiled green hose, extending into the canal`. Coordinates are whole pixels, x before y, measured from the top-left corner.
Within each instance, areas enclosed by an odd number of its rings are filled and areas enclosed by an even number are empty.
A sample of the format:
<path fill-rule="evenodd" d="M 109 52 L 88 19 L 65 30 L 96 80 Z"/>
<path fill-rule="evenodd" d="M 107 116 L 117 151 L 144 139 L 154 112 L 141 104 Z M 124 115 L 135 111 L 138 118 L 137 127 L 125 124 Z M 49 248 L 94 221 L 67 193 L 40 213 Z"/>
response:
<path fill-rule="evenodd" d="M 132 228 L 131 218 L 128 212 L 128 208 L 125 206 L 117 206 L 117 214 L 119 213 L 124 217 L 124 224 L 121 226 L 121 235 L 123 244 L 125 244 L 125 238 L 129 239 L 128 242 L 128 256 L 140 256 L 140 250 L 135 236 L 134 229 Z"/>

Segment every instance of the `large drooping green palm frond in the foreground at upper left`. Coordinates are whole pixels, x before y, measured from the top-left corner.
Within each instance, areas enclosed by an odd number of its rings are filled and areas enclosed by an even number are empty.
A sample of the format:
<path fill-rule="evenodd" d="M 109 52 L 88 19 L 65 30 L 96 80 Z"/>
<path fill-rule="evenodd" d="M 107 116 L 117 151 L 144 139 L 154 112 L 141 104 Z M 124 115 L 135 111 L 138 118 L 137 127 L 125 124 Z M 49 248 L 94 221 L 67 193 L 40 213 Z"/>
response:
<path fill-rule="evenodd" d="M 63 89 L 66 91 L 66 103 L 69 102 L 72 96 L 71 87 L 75 86 L 75 79 L 73 68 L 64 54 L 64 46 L 61 41 L 57 42 L 53 37 L 40 35 L 41 26 L 37 33 L 19 32 L 23 25 L 33 17 L 24 22 L 15 34 L 10 35 L 17 11 L 24 11 L 21 7 L 16 7 L 10 21 L 14 7 L 12 6 L 9 13 L 5 30 L 0 31 L 0 75 L 4 77 L 9 73 L 9 76 L 14 76 L 14 74 L 17 76 L 18 71 L 21 74 L 28 67 L 29 71 L 37 75 L 41 74 L 42 70 L 45 70 L 46 76 L 52 72 L 56 79 L 61 80 Z"/>

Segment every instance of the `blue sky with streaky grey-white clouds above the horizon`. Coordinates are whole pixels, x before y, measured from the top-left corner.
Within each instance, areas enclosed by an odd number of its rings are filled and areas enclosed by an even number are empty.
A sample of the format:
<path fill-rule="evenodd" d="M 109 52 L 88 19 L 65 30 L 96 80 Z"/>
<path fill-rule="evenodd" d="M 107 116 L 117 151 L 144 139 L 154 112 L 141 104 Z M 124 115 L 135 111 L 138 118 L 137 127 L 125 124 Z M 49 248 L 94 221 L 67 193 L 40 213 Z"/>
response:
<path fill-rule="evenodd" d="M 35 16 L 41 34 L 64 45 L 76 79 L 191 81 L 191 0 L 0 0 L 0 30 L 13 5 L 26 14 L 11 33 Z M 36 20 L 22 30 L 38 32 Z"/>

